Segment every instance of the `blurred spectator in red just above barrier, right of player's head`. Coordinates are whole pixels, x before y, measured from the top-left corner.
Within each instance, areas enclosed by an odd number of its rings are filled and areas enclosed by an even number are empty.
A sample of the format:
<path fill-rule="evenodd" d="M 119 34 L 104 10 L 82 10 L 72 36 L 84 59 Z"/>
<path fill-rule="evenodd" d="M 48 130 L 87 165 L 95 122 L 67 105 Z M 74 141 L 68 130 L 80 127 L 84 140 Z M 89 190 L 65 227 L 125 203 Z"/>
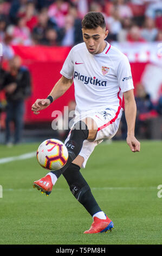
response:
<path fill-rule="evenodd" d="M 145 39 L 141 36 L 141 30 L 138 26 L 133 25 L 127 34 L 127 40 L 129 42 L 145 42 Z"/>

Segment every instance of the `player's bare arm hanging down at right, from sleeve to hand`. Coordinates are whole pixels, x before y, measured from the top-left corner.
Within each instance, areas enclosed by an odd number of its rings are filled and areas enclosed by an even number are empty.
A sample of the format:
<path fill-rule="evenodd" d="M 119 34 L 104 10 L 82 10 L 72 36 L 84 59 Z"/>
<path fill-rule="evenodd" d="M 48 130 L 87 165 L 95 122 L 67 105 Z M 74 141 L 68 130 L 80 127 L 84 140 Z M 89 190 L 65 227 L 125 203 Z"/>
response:
<path fill-rule="evenodd" d="M 140 151 L 140 142 L 134 136 L 135 118 L 137 107 L 134 99 L 133 89 L 124 93 L 125 117 L 127 122 L 127 144 L 132 152 Z"/>

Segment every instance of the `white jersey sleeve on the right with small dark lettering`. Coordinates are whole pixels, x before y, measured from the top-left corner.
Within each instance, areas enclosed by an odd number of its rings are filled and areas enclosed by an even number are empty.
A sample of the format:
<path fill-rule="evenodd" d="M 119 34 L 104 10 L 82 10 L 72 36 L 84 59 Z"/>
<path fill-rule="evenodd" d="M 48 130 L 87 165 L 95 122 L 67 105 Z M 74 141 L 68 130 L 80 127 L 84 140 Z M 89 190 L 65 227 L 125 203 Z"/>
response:
<path fill-rule="evenodd" d="M 117 78 L 121 92 L 124 93 L 127 90 L 134 89 L 131 66 L 128 58 L 124 55 L 118 65 Z"/>

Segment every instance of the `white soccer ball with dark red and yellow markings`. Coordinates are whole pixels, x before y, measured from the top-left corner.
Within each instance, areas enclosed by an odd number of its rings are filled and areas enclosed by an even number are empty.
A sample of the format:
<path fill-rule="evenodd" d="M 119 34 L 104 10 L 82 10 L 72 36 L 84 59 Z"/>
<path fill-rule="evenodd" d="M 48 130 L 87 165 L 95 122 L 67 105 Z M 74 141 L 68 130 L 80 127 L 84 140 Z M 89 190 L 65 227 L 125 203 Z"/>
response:
<path fill-rule="evenodd" d="M 37 149 L 37 160 L 43 168 L 58 170 L 68 160 L 68 150 L 59 139 L 47 139 Z"/>

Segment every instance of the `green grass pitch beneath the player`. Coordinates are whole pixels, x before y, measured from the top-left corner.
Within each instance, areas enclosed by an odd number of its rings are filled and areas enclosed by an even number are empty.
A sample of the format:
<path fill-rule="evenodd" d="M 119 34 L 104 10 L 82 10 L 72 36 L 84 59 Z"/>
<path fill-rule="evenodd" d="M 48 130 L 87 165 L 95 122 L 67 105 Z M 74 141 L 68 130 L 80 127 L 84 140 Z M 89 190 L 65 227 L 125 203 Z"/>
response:
<path fill-rule="evenodd" d="M 0 146 L 0 159 L 36 151 L 38 144 Z M 36 157 L 0 163 L 0 244 L 162 244 L 162 144 L 141 142 L 132 153 L 126 142 L 101 143 L 82 174 L 96 201 L 114 222 L 111 233 L 86 235 L 92 217 L 70 193 L 63 176 L 49 197 L 33 188 L 48 171 Z M 162 192 L 161 192 L 162 194 Z"/>

